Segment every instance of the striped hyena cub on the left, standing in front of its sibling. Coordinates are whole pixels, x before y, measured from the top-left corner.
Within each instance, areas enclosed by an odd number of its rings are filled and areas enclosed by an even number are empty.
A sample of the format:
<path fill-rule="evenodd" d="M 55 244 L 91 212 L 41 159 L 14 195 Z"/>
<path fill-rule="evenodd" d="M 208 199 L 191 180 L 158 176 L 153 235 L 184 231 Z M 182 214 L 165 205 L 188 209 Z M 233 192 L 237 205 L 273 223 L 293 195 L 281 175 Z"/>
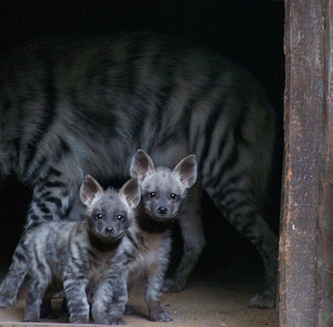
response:
<path fill-rule="evenodd" d="M 52 280 L 60 279 L 71 322 L 88 322 L 86 291 L 91 290 L 94 321 L 124 324 L 128 296 L 120 244 L 140 197 L 136 178 L 117 192 L 104 191 L 86 175 L 80 188 L 86 207 L 84 221 L 41 223 L 27 231 L 24 246 L 30 281 L 25 321 L 39 321 L 42 298 Z"/>

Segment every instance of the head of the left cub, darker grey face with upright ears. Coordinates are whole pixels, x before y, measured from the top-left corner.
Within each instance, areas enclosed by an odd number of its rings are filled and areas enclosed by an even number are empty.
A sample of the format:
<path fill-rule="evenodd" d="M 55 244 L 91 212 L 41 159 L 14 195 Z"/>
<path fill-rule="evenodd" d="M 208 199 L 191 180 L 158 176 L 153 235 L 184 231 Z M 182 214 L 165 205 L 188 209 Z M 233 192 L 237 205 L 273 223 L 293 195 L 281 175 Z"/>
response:
<path fill-rule="evenodd" d="M 101 241 L 113 243 L 128 229 L 134 208 L 140 203 L 141 190 L 138 179 L 131 178 L 119 192 L 112 188 L 104 191 L 92 176 L 86 175 L 80 199 L 86 206 L 90 231 Z"/>

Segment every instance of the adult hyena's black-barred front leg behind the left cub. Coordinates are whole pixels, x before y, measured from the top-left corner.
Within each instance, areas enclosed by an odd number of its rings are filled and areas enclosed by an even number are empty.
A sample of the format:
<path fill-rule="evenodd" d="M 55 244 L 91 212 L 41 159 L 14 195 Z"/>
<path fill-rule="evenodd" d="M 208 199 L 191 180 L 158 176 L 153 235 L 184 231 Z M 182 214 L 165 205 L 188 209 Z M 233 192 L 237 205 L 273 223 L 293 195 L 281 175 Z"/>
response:
<path fill-rule="evenodd" d="M 83 177 L 82 177 L 83 179 Z M 75 183 L 61 171 L 49 168 L 47 174 L 37 179 L 25 229 L 39 222 L 66 219 L 81 181 Z M 27 256 L 23 247 L 24 233 L 14 251 L 12 263 L 0 285 L 0 308 L 16 303 L 17 294 L 27 274 Z"/>

